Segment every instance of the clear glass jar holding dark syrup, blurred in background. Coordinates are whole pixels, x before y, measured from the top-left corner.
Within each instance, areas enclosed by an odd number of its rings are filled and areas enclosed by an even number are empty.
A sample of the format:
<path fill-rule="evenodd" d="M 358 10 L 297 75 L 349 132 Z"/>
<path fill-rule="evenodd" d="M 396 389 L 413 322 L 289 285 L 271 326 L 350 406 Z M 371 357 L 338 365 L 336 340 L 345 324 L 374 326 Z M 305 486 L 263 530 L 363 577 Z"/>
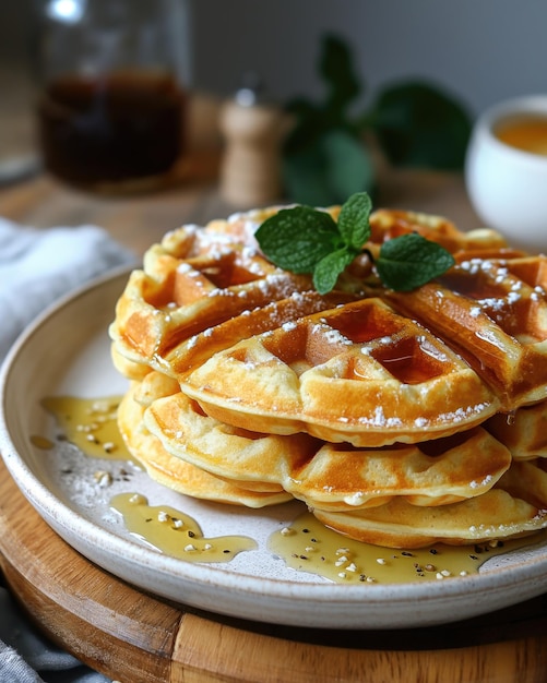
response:
<path fill-rule="evenodd" d="M 38 142 L 47 170 L 88 189 L 166 181 L 183 153 L 185 0 L 48 0 Z"/>

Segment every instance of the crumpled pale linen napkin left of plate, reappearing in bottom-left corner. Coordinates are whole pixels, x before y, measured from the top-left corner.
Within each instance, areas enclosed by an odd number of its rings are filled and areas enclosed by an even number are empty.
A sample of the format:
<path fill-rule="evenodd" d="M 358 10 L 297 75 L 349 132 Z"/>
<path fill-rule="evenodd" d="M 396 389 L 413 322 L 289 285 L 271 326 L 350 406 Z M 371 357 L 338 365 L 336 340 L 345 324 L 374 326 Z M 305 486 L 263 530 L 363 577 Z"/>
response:
<path fill-rule="evenodd" d="M 0 217 L 0 363 L 46 307 L 124 263 L 135 256 L 96 226 L 38 230 Z M 0 587 L 0 683 L 106 681 L 38 634 Z"/>

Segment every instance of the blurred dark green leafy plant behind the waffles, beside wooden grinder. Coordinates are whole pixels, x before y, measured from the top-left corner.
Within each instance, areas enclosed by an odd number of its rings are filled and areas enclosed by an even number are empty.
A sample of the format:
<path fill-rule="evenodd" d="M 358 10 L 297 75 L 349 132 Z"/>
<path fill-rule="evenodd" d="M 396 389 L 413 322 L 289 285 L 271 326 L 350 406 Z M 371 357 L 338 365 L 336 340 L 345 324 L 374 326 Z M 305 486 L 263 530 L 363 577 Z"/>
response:
<path fill-rule="evenodd" d="M 425 81 L 388 85 L 360 116 L 349 105 L 362 93 L 349 45 L 323 36 L 318 71 L 326 93 L 286 105 L 295 124 L 283 145 L 283 179 L 290 201 L 325 206 L 354 192 L 370 192 L 374 167 L 361 142 L 374 133 L 394 166 L 462 170 L 472 130 L 465 106 L 443 87 Z M 345 139 L 344 139 L 345 135 Z"/>

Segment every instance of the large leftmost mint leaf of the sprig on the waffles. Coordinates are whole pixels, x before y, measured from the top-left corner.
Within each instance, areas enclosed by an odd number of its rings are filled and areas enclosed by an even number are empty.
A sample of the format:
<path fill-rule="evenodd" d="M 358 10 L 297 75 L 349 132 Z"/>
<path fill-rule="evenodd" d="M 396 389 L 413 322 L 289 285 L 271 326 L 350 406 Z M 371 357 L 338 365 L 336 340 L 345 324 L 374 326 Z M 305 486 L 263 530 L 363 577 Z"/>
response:
<path fill-rule="evenodd" d="M 316 264 L 340 247 L 332 216 L 311 206 L 280 211 L 264 220 L 254 237 L 272 263 L 293 273 L 313 273 Z"/>

